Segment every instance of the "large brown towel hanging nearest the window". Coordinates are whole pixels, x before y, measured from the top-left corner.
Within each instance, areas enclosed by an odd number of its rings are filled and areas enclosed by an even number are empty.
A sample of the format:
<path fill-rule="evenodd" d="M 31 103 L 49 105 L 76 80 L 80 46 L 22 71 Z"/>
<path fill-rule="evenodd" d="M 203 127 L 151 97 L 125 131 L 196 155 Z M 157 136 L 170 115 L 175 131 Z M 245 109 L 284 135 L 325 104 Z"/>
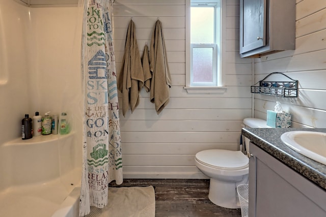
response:
<path fill-rule="evenodd" d="M 162 33 L 162 24 L 156 21 L 152 34 L 149 52 L 150 70 L 152 73 L 150 101 L 155 104 L 159 114 L 170 101 L 171 76 L 167 60 L 167 50 Z"/>

